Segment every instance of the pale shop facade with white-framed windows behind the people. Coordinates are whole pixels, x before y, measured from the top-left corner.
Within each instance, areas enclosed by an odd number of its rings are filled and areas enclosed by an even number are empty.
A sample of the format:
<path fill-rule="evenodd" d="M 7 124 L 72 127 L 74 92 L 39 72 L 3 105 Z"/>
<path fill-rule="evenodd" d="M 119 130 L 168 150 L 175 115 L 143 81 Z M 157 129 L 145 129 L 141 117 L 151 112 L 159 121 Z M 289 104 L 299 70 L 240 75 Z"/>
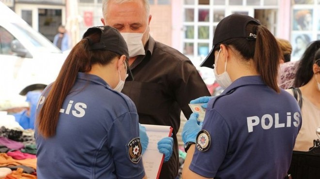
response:
<path fill-rule="evenodd" d="M 102 0 L 1 0 L 49 40 L 59 24 L 74 35 L 102 25 Z M 227 15 L 250 15 L 277 38 L 289 40 L 292 60 L 302 43 L 320 39 L 320 0 L 149 0 L 150 34 L 188 56 L 198 66 L 212 48 L 214 30 Z"/>

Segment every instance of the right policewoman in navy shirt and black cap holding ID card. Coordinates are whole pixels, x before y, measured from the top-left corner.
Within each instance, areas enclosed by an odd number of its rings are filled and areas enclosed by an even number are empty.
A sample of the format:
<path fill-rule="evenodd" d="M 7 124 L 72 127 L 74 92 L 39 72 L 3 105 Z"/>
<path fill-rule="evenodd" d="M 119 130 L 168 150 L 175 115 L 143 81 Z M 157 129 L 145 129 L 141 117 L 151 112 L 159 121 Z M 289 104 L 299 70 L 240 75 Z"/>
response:
<path fill-rule="evenodd" d="M 183 179 L 284 179 L 301 128 L 301 111 L 277 86 L 281 52 L 272 33 L 248 15 L 219 22 L 201 64 L 225 89 L 206 103 L 203 124 L 192 113 L 182 132 Z"/>

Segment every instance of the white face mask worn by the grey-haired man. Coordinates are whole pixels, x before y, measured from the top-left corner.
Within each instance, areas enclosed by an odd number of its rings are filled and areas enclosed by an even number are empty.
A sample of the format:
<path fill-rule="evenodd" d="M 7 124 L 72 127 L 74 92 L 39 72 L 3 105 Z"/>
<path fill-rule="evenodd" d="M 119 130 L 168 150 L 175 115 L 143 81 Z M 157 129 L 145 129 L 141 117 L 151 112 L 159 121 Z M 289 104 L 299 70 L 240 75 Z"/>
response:
<path fill-rule="evenodd" d="M 144 32 L 147 28 L 144 30 Z M 142 37 L 144 33 L 120 33 L 125 39 L 128 45 L 129 57 L 135 57 L 138 55 L 145 55 L 144 45 L 142 43 Z"/>

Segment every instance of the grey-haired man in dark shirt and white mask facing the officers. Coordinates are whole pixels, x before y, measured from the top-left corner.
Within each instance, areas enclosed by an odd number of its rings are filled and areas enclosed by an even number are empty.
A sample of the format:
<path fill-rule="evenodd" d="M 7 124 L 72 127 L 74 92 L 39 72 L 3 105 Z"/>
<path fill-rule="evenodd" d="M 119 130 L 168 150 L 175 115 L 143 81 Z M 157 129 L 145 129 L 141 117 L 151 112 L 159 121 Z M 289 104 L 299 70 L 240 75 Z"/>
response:
<path fill-rule="evenodd" d="M 119 30 L 128 45 L 134 80 L 129 76 L 122 92 L 137 106 L 139 122 L 173 127 L 173 153 L 163 163 L 160 179 L 175 179 L 180 112 L 189 119 L 190 100 L 210 93 L 191 60 L 150 36 L 149 0 L 103 0 L 102 4 L 101 22 Z"/>

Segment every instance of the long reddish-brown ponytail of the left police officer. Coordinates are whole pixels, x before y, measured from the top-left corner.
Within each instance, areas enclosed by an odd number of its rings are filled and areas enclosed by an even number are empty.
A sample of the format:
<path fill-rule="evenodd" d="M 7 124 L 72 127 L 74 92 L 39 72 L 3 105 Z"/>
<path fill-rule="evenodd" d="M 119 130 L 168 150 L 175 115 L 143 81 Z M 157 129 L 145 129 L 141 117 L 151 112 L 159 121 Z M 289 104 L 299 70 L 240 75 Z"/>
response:
<path fill-rule="evenodd" d="M 38 133 L 44 138 L 55 135 L 60 109 L 77 80 L 78 72 L 89 72 L 93 64 L 106 65 L 113 58 L 120 58 L 120 55 L 108 50 L 89 50 L 89 45 L 99 42 L 100 36 L 101 33 L 93 33 L 82 39 L 64 61 L 36 119 Z"/>

